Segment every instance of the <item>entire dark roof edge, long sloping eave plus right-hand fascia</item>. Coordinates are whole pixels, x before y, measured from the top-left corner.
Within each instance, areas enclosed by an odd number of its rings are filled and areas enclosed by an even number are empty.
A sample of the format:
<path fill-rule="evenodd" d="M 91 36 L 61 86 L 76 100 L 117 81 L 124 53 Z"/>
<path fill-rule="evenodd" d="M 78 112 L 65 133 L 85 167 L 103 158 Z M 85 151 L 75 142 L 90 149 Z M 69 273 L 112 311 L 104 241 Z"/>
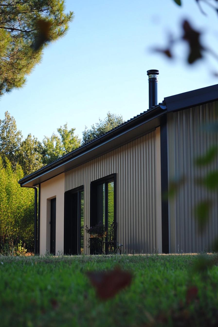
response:
<path fill-rule="evenodd" d="M 20 181 L 18 181 L 18 183 L 21 184 L 21 186 L 25 186 L 25 184 L 27 184 L 29 181 L 34 181 L 37 177 L 41 175 L 57 170 L 58 167 L 63 166 L 65 163 L 72 162 L 75 158 L 78 158 L 79 156 L 83 156 L 84 154 L 90 151 L 94 151 L 96 147 L 113 140 L 115 137 L 119 137 L 123 133 L 128 132 L 131 128 L 136 128 L 140 124 L 145 124 L 146 122 L 149 122 L 157 117 L 160 117 L 161 115 L 167 112 L 183 110 L 215 100 L 218 100 L 218 84 L 165 97 L 164 100 L 160 102 L 158 105 L 152 107 L 147 111 L 141 112 L 140 114 L 134 116 L 133 118 L 128 119 L 126 122 L 109 130 L 107 133 L 99 135 L 96 139 L 90 141 L 85 145 L 78 147 L 74 151 L 59 158 L 53 163 L 50 163 L 42 167 L 41 169 L 35 171 L 34 173 L 25 176 Z M 59 171 L 60 171 L 59 173 L 61 173 L 64 171 L 64 169 Z M 57 174 L 58 172 L 56 172 L 56 175 Z M 50 176 L 51 175 L 52 174 L 50 174 Z M 55 172 L 53 175 L 56 176 Z M 53 175 L 49 178 L 52 178 Z"/>

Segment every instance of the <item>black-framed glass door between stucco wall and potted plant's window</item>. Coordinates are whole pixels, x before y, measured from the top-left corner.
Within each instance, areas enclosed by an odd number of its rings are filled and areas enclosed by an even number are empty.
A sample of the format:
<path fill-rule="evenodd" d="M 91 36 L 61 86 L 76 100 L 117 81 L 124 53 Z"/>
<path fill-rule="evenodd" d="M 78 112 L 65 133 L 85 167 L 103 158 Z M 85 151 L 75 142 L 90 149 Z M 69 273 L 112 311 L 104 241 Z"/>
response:
<path fill-rule="evenodd" d="M 65 192 L 64 253 L 84 251 L 84 189 L 83 186 Z"/>

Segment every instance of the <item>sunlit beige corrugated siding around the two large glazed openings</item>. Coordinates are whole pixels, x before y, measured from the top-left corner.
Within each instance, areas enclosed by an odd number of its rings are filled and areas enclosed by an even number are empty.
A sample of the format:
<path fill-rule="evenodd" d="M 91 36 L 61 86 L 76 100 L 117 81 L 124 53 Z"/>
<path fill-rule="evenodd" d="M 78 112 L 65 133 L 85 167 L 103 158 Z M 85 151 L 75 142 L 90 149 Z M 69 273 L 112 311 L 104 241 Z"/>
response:
<path fill-rule="evenodd" d="M 159 143 L 156 129 L 65 173 L 65 191 L 84 185 L 84 226 L 91 181 L 117 173 L 117 241 L 128 253 L 162 250 Z"/>

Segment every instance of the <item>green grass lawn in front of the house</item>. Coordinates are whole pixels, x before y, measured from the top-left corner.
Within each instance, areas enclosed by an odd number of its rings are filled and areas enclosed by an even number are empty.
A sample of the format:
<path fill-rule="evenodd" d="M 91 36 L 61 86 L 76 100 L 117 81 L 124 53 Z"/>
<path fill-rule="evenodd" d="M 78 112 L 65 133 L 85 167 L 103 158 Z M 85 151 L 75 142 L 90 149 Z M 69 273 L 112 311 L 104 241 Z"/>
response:
<path fill-rule="evenodd" d="M 217 326 L 217 259 L 204 271 L 194 270 L 198 258 L 0 256 L 0 326 Z M 98 299 L 86 272 L 118 265 L 132 272 L 131 285 Z M 187 300 L 193 286 L 198 294 Z"/>

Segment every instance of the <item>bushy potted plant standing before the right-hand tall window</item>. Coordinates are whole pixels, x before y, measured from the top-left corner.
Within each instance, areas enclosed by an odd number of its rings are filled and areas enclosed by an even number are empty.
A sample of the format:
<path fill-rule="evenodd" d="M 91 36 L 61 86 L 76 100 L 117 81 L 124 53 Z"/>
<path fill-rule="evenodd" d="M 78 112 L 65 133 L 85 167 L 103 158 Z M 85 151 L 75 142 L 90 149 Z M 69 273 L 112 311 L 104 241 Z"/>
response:
<path fill-rule="evenodd" d="M 104 251 L 104 238 L 107 235 L 105 225 L 101 222 L 90 228 L 86 225 L 86 232 L 90 234 L 88 239 L 90 254 L 102 254 Z"/>

